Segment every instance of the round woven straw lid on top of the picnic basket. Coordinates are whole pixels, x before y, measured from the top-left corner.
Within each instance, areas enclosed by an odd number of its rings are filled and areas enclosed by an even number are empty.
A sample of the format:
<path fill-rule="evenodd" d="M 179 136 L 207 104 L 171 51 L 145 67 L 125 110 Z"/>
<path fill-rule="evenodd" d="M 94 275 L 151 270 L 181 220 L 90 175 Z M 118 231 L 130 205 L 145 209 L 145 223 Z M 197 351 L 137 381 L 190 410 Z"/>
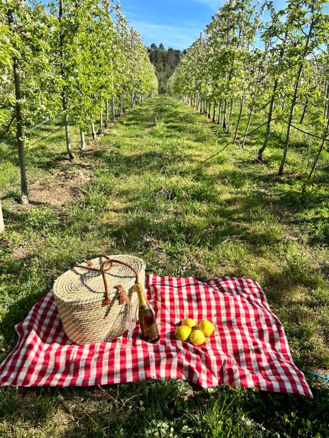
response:
<path fill-rule="evenodd" d="M 121 254 L 118 256 L 109 256 L 109 258 L 129 263 L 135 268 L 138 274 L 145 270 L 144 261 L 138 257 Z M 105 260 L 105 257 L 100 256 L 90 261 L 93 268 L 101 269 L 101 265 Z M 88 266 L 88 264 L 81 263 L 81 266 Z M 119 263 L 113 263 L 113 267 L 110 271 L 106 272 L 105 275 L 109 291 L 118 284 L 125 287 L 125 283 L 135 282 L 134 272 L 128 266 Z M 87 271 L 83 268 L 76 267 L 60 275 L 54 282 L 53 290 L 56 300 L 81 304 L 100 302 L 103 300 L 105 293 L 101 272 Z"/>

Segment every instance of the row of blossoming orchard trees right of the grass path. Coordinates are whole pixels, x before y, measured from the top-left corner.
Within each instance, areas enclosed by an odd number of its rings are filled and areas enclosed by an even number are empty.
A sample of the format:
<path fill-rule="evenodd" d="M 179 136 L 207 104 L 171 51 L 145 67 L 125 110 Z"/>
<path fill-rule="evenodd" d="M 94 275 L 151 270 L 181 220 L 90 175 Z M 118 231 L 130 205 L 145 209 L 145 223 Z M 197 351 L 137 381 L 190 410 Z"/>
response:
<path fill-rule="evenodd" d="M 276 11 L 271 1 L 227 1 L 186 51 L 168 92 L 213 118 L 244 148 L 253 117 L 264 117 L 258 160 L 269 144 L 273 120 L 286 127 L 279 175 L 286 164 L 291 129 L 315 139 L 310 180 L 329 128 L 329 15 L 327 1 L 290 0 Z M 268 17 L 265 22 L 263 17 Z M 237 107 L 237 110 L 236 110 Z M 236 123 L 232 126 L 232 112 Z M 247 123 L 241 127 L 241 116 Z M 218 118 L 217 118 L 218 114 Z M 307 116 L 307 117 L 305 117 Z M 305 120 L 310 126 L 305 130 Z M 295 126 L 297 125 L 297 126 Z M 252 133 L 252 132 L 250 132 Z"/>

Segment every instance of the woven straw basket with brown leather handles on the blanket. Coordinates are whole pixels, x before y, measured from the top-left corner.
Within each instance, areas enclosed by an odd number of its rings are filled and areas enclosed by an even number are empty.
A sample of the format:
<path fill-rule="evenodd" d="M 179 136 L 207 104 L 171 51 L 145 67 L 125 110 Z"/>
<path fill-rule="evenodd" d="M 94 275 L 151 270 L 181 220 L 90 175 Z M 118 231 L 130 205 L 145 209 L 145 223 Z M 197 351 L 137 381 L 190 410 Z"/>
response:
<path fill-rule="evenodd" d="M 137 305 L 135 283 L 144 287 L 145 263 L 127 255 L 87 260 L 58 277 L 54 297 L 68 338 L 83 345 L 120 336 Z"/>

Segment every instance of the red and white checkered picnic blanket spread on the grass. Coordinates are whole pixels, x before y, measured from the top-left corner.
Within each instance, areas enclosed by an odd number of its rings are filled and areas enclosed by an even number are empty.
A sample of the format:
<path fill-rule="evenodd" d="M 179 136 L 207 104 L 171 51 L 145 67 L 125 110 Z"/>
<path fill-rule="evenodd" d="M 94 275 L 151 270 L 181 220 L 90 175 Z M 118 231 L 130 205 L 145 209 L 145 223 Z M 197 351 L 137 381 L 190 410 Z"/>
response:
<path fill-rule="evenodd" d="M 88 386 L 146 379 L 186 379 L 204 388 L 218 384 L 312 396 L 294 365 L 279 319 L 258 283 L 225 276 L 194 278 L 149 275 L 147 298 L 160 327 L 160 341 L 141 339 L 137 323 L 132 347 L 127 333 L 112 342 L 85 346 L 65 335 L 50 291 L 19 322 L 19 341 L 0 365 L 0 384 Z M 186 317 L 209 319 L 214 333 L 200 347 L 176 341 Z"/>

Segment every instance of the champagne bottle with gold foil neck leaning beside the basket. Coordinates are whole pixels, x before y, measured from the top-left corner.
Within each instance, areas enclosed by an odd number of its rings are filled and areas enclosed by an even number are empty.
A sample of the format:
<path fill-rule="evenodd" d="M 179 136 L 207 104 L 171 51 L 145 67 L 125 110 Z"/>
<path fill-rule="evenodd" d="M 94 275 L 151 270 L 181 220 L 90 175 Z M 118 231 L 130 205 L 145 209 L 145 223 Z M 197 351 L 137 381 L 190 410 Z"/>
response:
<path fill-rule="evenodd" d="M 138 295 L 138 319 L 145 341 L 155 344 L 160 339 L 159 329 L 156 324 L 155 315 L 146 301 L 143 286 L 140 283 L 135 285 Z"/>

